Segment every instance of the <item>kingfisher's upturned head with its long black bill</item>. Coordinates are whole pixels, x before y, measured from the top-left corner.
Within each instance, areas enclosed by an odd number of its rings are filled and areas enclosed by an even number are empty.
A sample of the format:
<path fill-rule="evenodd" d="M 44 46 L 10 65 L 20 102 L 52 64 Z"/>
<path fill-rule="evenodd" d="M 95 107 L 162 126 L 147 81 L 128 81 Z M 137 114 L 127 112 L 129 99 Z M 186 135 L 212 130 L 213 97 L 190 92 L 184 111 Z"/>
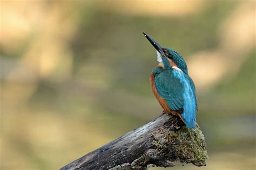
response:
<path fill-rule="evenodd" d="M 177 67 L 183 73 L 188 74 L 186 62 L 179 53 L 177 53 L 171 48 L 161 47 L 155 40 L 153 40 L 146 33 L 143 32 L 143 34 L 147 38 L 147 40 L 149 40 L 150 43 L 154 46 L 154 48 L 156 48 L 157 61 L 161 65 L 164 65 L 165 68 Z"/>

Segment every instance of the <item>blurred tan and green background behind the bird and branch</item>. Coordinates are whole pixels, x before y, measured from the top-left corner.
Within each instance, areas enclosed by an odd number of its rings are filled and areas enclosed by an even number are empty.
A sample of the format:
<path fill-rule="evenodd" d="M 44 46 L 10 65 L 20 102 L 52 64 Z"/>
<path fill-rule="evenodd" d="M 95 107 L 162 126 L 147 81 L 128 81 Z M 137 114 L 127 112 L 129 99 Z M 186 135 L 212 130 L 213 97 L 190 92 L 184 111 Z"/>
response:
<path fill-rule="evenodd" d="M 142 31 L 184 56 L 197 87 L 210 159 L 175 169 L 255 169 L 255 1 L 0 5 L 0 169 L 58 169 L 157 117 Z"/>

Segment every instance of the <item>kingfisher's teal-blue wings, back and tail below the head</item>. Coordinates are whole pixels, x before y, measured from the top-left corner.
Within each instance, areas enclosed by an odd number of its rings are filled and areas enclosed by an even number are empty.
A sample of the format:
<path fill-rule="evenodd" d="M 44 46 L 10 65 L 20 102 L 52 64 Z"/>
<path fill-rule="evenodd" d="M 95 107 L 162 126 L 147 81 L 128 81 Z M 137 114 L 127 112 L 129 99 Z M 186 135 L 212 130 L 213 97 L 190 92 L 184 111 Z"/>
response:
<path fill-rule="evenodd" d="M 194 128 L 197 100 L 192 79 L 183 72 L 167 69 L 156 74 L 154 81 L 157 93 L 166 100 L 172 110 L 183 109 L 181 117 L 188 128 Z"/>

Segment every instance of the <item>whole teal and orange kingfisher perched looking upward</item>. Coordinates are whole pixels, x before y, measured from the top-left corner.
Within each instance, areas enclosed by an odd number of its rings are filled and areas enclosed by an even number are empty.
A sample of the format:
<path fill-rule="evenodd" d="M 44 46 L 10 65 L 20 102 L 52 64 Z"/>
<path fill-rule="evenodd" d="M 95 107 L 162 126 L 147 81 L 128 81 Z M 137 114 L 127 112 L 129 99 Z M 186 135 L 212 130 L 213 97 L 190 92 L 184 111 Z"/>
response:
<path fill-rule="evenodd" d="M 188 75 L 183 57 L 171 48 L 161 47 L 150 36 L 144 36 L 156 48 L 158 66 L 150 75 L 151 89 L 163 112 L 179 116 L 188 129 L 196 126 L 196 88 Z"/>

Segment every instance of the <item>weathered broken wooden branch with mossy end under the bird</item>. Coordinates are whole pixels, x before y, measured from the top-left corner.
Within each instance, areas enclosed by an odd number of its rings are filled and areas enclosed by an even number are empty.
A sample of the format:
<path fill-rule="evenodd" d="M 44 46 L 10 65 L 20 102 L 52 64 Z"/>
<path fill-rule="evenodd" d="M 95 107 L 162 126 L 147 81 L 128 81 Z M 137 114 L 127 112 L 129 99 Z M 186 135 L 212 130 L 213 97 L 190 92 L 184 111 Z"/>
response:
<path fill-rule="evenodd" d="M 174 161 L 205 166 L 207 159 L 198 124 L 195 129 L 187 129 L 176 116 L 162 114 L 60 170 L 147 169 L 149 165 L 172 167 Z"/>

